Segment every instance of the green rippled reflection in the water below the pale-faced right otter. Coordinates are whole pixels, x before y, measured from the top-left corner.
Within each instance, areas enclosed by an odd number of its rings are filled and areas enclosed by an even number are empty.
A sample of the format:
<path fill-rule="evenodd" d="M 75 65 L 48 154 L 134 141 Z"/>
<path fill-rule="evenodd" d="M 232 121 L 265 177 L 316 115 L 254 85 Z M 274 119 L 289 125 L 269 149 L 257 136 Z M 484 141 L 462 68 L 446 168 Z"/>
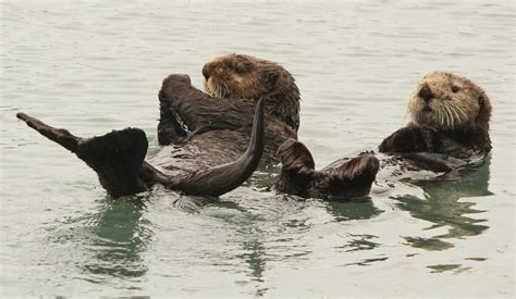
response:
<path fill-rule="evenodd" d="M 490 158 L 479 169 L 464 175 L 457 182 L 432 183 L 423 186 L 425 199 L 414 196 L 397 198 L 397 207 L 408 211 L 411 216 L 433 223 L 429 229 L 446 227 L 447 233 L 430 238 L 405 237 L 407 242 L 427 250 L 444 250 L 453 247 L 445 239 L 477 236 L 489 226 L 482 224 L 487 220 L 467 215 L 484 211 L 474 209 L 475 202 L 464 198 L 490 196 L 489 191 Z"/>

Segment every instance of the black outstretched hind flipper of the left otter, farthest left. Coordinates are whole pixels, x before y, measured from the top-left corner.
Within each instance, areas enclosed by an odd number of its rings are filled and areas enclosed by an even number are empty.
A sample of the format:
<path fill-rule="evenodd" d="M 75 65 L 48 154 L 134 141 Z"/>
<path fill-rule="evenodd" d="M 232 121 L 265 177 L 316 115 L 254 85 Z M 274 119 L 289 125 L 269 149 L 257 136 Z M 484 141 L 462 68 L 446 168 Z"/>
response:
<path fill-rule="evenodd" d="M 103 136 L 79 138 L 66 129 L 51 127 L 25 113 L 19 113 L 16 116 L 86 162 L 113 198 L 145 190 L 144 184 L 138 178 L 148 147 L 142 129 L 125 128 Z"/>

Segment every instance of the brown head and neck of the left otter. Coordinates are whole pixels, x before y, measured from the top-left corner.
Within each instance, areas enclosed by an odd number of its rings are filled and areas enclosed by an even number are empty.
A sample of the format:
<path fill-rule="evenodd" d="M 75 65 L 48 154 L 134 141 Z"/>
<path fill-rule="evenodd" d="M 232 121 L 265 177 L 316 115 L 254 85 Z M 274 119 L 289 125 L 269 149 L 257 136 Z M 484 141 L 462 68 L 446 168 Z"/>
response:
<path fill-rule="evenodd" d="M 299 89 L 275 62 L 243 54 L 216 58 L 202 67 L 205 90 L 214 98 L 268 99 L 266 110 L 293 128 L 299 126 Z"/>

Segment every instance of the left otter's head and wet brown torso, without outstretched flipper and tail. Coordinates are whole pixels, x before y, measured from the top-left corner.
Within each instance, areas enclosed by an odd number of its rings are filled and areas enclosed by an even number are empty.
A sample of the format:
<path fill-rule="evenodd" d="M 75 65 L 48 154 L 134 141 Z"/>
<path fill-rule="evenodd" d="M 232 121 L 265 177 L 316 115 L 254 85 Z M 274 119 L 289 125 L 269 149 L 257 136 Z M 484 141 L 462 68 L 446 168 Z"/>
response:
<path fill-rule="evenodd" d="M 187 75 L 163 80 L 158 140 L 173 150 L 155 162 L 171 172 L 232 161 L 246 148 L 261 97 L 267 99 L 263 160 L 278 162 L 278 147 L 297 139 L 300 96 L 292 75 L 275 62 L 241 54 L 211 60 L 202 74 L 206 92 L 192 86 Z M 182 161 L 169 163 L 169 158 Z"/>

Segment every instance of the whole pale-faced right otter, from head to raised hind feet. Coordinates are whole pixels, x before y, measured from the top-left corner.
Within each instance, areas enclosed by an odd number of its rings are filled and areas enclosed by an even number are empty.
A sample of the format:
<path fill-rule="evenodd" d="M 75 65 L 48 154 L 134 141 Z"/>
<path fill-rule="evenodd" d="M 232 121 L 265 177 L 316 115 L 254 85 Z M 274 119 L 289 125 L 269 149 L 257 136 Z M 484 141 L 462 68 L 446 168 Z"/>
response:
<path fill-rule="evenodd" d="M 351 199 L 367 195 L 374 175 L 377 190 L 394 187 L 402 180 L 457 178 L 463 170 L 481 163 L 491 150 L 490 100 L 465 77 L 428 74 L 410 97 L 408 113 L 411 122 L 385 138 L 379 146 L 380 153 L 340 159 L 321 171 L 315 170 L 314 159 L 302 142 L 285 141 L 278 150 L 283 166 L 274 188 L 302 197 L 320 197 L 320 186 L 327 191 L 335 171 L 346 165 L 363 165 L 364 171 L 349 177 L 358 177 L 364 184 L 348 184 L 334 194 L 327 192 L 328 198 L 336 195 L 340 199 Z"/>

